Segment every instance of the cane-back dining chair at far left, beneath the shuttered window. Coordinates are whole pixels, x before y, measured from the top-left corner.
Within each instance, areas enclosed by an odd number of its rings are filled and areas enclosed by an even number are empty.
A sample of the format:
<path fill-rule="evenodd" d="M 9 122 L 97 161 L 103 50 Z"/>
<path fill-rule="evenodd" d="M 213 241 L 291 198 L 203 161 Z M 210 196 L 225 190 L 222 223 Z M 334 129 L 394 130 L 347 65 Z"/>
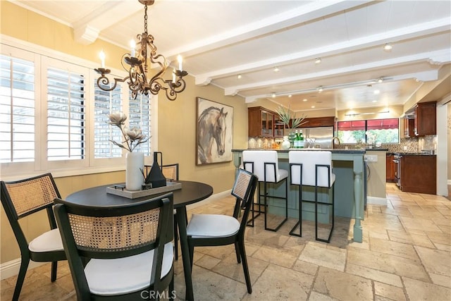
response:
<path fill-rule="evenodd" d="M 20 269 L 13 294 L 13 300 L 18 300 L 30 260 L 51 262 L 52 282 L 56 281 L 57 262 L 66 260 L 61 235 L 56 228 L 52 210 L 54 199 L 61 195 L 50 173 L 13 182 L 2 180 L 0 185 L 1 204 L 20 248 Z M 44 209 L 47 211 L 50 230 L 27 242 L 19 220 Z"/>

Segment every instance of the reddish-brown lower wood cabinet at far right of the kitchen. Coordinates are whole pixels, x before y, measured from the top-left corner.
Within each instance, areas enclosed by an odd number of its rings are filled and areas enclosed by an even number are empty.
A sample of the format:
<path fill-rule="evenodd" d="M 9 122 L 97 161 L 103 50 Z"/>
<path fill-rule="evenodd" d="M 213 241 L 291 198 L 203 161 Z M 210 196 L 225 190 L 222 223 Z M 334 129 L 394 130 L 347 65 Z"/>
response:
<path fill-rule="evenodd" d="M 400 188 L 405 192 L 437 192 L 437 156 L 402 154 Z"/>

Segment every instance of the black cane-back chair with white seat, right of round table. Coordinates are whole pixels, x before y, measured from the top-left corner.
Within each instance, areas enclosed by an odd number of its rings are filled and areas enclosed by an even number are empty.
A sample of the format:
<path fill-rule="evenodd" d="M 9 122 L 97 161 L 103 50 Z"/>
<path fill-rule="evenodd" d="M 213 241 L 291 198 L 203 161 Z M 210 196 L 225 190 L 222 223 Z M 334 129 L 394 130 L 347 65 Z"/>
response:
<path fill-rule="evenodd" d="M 237 262 L 242 263 L 242 268 L 245 272 L 247 293 L 249 294 L 252 293 L 252 285 L 247 266 L 245 229 L 257 183 L 257 176 L 244 169 L 239 169 L 232 189 L 232 195 L 236 197 L 233 216 L 222 214 L 192 214 L 190 223 L 187 226 L 191 266 L 194 247 L 234 244 Z M 241 209 L 244 209 L 244 212 L 242 213 L 240 222 L 237 218 Z"/>

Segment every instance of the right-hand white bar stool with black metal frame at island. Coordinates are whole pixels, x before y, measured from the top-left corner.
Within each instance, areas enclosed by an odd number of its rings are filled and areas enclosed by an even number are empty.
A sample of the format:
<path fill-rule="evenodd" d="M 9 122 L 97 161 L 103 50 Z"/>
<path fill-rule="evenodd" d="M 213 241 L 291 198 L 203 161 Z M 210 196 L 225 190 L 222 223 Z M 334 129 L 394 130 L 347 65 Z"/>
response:
<path fill-rule="evenodd" d="M 332 153 L 323 151 L 292 151 L 288 152 L 288 162 L 290 164 L 290 184 L 299 185 L 299 221 L 291 229 L 290 235 L 302 236 L 302 202 L 315 204 L 315 239 L 322 242 L 330 242 L 334 226 L 334 183 L 335 174 L 332 173 Z M 302 187 L 311 186 L 315 189 L 314 201 L 303 199 Z M 332 200 L 323 202 L 318 200 L 318 188 L 328 188 L 331 190 Z M 329 193 L 330 196 L 330 193 Z M 318 238 L 318 204 L 332 207 L 329 214 L 332 214 L 332 226 L 328 238 Z M 330 217 L 329 217 L 330 221 Z M 299 234 L 295 233 L 295 228 L 299 225 Z"/>

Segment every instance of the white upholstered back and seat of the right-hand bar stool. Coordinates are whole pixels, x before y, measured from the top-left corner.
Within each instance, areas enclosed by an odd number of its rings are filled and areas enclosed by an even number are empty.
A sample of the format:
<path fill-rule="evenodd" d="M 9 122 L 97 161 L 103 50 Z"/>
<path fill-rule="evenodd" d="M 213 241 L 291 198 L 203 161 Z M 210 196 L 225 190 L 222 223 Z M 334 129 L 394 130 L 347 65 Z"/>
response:
<path fill-rule="evenodd" d="M 331 187 L 335 182 L 335 174 L 332 173 L 332 153 L 323 151 L 291 151 L 288 152 L 288 162 L 290 164 L 302 164 L 302 185 L 315 185 L 316 164 L 328 165 L 318 169 L 318 186 Z M 300 166 L 291 166 L 291 183 L 300 184 Z M 330 177 L 330 186 L 328 180 Z"/>

